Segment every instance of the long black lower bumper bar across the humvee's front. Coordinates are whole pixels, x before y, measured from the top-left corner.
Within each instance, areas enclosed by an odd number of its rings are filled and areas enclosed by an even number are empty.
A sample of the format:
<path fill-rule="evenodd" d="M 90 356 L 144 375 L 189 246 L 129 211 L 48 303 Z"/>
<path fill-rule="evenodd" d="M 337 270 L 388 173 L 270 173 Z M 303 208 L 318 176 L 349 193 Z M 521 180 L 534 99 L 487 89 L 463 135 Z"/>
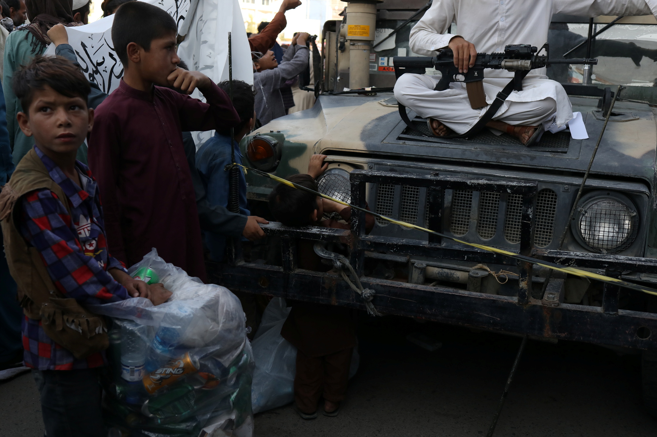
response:
<path fill-rule="evenodd" d="M 208 267 L 214 282 L 233 291 L 365 310 L 360 297 L 336 274 L 300 269 L 285 273 L 278 266 L 246 262 L 235 266 L 210 263 Z M 595 306 L 543 306 L 534 299 L 520 305 L 516 297 L 367 277 L 361 278 L 361 283 L 376 290 L 373 304 L 386 314 L 538 337 L 657 349 L 657 314 L 625 310 L 606 314 Z M 648 332 L 641 328 L 652 334 L 641 339 L 639 335 Z"/>

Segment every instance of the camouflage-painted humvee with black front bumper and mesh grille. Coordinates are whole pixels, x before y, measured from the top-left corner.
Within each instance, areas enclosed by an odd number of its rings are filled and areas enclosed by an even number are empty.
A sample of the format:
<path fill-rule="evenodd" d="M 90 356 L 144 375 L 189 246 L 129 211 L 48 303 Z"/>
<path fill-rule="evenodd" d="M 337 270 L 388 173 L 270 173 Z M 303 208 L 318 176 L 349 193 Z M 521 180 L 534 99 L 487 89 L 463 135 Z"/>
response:
<path fill-rule="evenodd" d="M 566 130 L 525 147 L 487 130 L 466 139 L 421 136 L 418 131 L 428 134 L 425 120 L 410 112 L 416 129 L 401 120 L 390 88 L 392 57 L 413 55 L 409 32 L 423 5 L 410 0 L 373 5 L 376 34 L 369 40 L 358 39 L 365 32 L 350 36 L 349 12 L 342 22 L 327 22 L 314 72 L 315 106 L 245 138 L 246 165 L 285 178 L 306 173 L 309 157 L 325 154 L 328 169 L 317 178 L 324 194 L 355 205 L 367 202 L 382 215 L 466 241 L 656 287 L 654 17 L 599 17 L 593 24 L 588 18 L 553 17 L 552 57 L 568 51 L 583 57 L 589 26 L 597 33 L 591 56 L 599 64 L 590 77 L 583 77 L 581 66 L 555 66 L 548 73 L 564 83 L 589 138 L 573 139 Z M 365 75 L 354 67 L 362 64 L 361 52 L 367 56 Z M 624 89 L 575 203 L 616 85 Z M 252 213 L 269 217 L 267 195 L 276 182 L 254 172 L 246 178 Z M 366 235 L 357 211 L 350 231 L 275 222 L 263 228 L 268 235 L 263 243 L 237 247 L 212 269 L 219 283 L 364 309 L 362 297 L 335 271 L 297 267 L 296 241 L 321 241 L 350 260 L 363 287 L 375 292 L 371 302 L 380 312 L 643 351 L 645 402 L 657 414 L 657 296 L 549 274 L 385 220 Z M 501 270 L 511 273 L 500 275 Z"/>

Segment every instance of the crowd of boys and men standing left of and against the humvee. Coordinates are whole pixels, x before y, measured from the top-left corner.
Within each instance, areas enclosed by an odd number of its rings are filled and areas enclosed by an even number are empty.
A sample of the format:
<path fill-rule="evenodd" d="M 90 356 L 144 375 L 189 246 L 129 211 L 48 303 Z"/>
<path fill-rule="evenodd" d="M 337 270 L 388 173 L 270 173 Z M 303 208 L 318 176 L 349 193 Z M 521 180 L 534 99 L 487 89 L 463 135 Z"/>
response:
<path fill-rule="evenodd" d="M 223 259 L 227 238 L 265 236 L 260 224 L 267 220 L 250 214 L 241 173 L 240 212 L 227 209 L 225 165 L 231 147 L 241 163 L 244 136 L 295 106 L 290 87 L 307 67 L 309 34 L 296 33 L 289 47 L 275 39 L 286 26 L 284 12 L 300 4 L 283 0 L 250 37 L 254 86 L 233 81 L 231 100 L 227 81 L 187 69 L 177 55 L 175 21 L 156 6 L 103 2 L 106 15 L 114 13 L 112 41 L 124 66 L 118 89 L 105 94 L 68 44 L 66 27 L 87 23 L 88 0 L 0 0 L 0 370 L 16 363 L 32 369 L 48 436 L 104 435 L 98 381 L 107 360 L 99 335 L 75 329 L 94 317 L 85 305 L 133 297 L 158 305 L 171 295 L 161 283 L 131 278 L 127 266 L 156 247 L 167 262 L 207 281 L 205 262 Z M 43 56 L 51 43 L 56 56 Z M 196 89 L 205 102 L 189 95 Z M 210 130 L 215 135 L 197 152 L 190 132 Z M 323 159 L 313 157 L 313 178 L 326 169 Z M 324 211 L 349 217 L 337 204 L 280 187 L 276 193 L 273 205 L 300 205 L 274 213 L 284 222 L 290 211 L 304 216 L 300 226 L 335 226 L 322 221 Z M 322 386 L 325 413 L 337 414 L 355 345 L 344 312 L 321 314 L 332 346 L 304 337 L 312 311 L 299 308 L 284 333 L 304 350 L 295 392 L 306 418 Z M 330 335 L 336 317 L 344 337 L 338 351 Z M 337 370 L 325 371 L 322 357 L 336 352 L 325 361 Z"/>

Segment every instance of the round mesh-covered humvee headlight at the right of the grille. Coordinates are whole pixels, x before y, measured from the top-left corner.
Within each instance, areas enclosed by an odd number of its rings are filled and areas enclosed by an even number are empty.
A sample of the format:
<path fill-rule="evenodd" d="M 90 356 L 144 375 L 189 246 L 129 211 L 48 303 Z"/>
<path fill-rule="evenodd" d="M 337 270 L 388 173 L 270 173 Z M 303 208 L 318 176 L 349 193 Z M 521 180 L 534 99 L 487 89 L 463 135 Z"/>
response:
<path fill-rule="evenodd" d="M 599 253 L 618 253 L 637 238 L 639 215 L 632 202 L 620 194 L 589 193 L 580 201 L 574 218 L 575 236 Z"/>

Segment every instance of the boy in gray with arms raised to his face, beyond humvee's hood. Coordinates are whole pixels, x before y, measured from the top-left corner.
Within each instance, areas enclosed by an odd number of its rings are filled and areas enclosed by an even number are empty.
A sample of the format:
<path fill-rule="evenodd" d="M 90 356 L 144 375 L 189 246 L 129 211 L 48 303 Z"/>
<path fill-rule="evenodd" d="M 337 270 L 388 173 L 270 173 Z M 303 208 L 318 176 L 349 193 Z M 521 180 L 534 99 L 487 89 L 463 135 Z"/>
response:
<path fill-rule="evenodd" d="M 306 41 L 310 35 L 297 33 L 292 44 L 283 55 L 281 65 L 276 61 L 274 52 L 269 50 L 260 59 L 254 60 L 254 89 L 256 89 L 256 115 L 262 125 L 283 117 L 285 107 L 281 96 L 281 87 L 285 81 L 292 79 L 306 68 L 309 51 Z"/>

